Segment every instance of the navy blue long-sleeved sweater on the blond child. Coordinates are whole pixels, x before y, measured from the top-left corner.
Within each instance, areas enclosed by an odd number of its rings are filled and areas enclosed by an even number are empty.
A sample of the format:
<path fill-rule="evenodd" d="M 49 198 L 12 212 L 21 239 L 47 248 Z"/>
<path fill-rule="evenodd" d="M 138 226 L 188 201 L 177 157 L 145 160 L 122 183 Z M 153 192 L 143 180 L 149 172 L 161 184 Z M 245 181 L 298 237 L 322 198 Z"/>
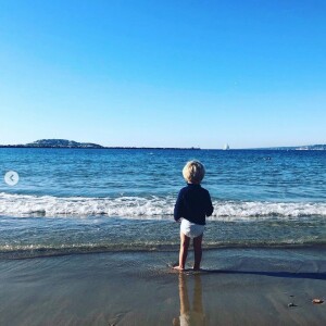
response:
<path fill-rule="evenodd" d="M 205 225 L 205 217 L 211 216 L 213 210 L 210 192 L 200 185 L 188 184 L 179 191 L 174 208 L 174 220 L 184 217 L 189 222 Z"/>

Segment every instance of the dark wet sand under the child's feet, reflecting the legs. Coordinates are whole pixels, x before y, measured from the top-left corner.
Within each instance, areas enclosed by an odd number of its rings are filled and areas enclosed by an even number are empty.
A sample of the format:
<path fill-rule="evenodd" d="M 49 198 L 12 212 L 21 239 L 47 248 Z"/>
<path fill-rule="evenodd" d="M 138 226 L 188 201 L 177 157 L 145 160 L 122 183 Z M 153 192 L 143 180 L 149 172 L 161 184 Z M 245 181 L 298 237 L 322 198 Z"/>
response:
<path fill-rule="evenodd" d="M 177 252 L 3 259 L 0 325 L 322 325 L 325 249 L 206 250 L 200 273 Z"/>

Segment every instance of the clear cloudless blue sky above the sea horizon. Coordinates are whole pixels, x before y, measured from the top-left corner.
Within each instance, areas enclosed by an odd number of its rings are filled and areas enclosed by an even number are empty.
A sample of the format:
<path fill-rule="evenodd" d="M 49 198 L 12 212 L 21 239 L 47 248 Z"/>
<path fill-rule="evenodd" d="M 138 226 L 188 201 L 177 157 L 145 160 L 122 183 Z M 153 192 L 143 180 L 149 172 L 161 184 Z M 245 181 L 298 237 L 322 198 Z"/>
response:
<path fill-rule="evenodd" d="M 326 1 L 0 0 L 0 143 L 326 143 Z"/>

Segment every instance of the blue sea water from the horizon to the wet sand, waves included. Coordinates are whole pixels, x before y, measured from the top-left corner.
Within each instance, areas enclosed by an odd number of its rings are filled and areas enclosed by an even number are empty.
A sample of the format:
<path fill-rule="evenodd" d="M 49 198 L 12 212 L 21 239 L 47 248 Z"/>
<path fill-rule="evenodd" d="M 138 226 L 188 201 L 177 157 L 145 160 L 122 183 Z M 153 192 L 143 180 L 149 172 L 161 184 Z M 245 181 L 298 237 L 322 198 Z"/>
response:
<path fill-rule="evenodd" d="M 214 205 L 205 248 L 326 244 L 326 151 L 1 148 L 0 256 L 177 250 L 192 159 Z"/>

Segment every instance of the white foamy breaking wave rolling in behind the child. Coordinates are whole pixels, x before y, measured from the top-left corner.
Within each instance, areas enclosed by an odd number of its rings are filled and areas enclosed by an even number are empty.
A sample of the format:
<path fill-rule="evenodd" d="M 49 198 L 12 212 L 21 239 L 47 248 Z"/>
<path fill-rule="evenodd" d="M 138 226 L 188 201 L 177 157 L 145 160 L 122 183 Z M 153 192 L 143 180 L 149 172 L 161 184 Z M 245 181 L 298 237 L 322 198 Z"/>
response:
<path fill-rule="evenodd" d="M 7 216 L 113 216 L 124 218 L 171 218 L 175 198 L 118 197 L 84 198 L 0 193 L 0 215 Z M 214 200 L 212 220 L 252 217 L 326 216 L 323 202 L 262 202 Z"/>

